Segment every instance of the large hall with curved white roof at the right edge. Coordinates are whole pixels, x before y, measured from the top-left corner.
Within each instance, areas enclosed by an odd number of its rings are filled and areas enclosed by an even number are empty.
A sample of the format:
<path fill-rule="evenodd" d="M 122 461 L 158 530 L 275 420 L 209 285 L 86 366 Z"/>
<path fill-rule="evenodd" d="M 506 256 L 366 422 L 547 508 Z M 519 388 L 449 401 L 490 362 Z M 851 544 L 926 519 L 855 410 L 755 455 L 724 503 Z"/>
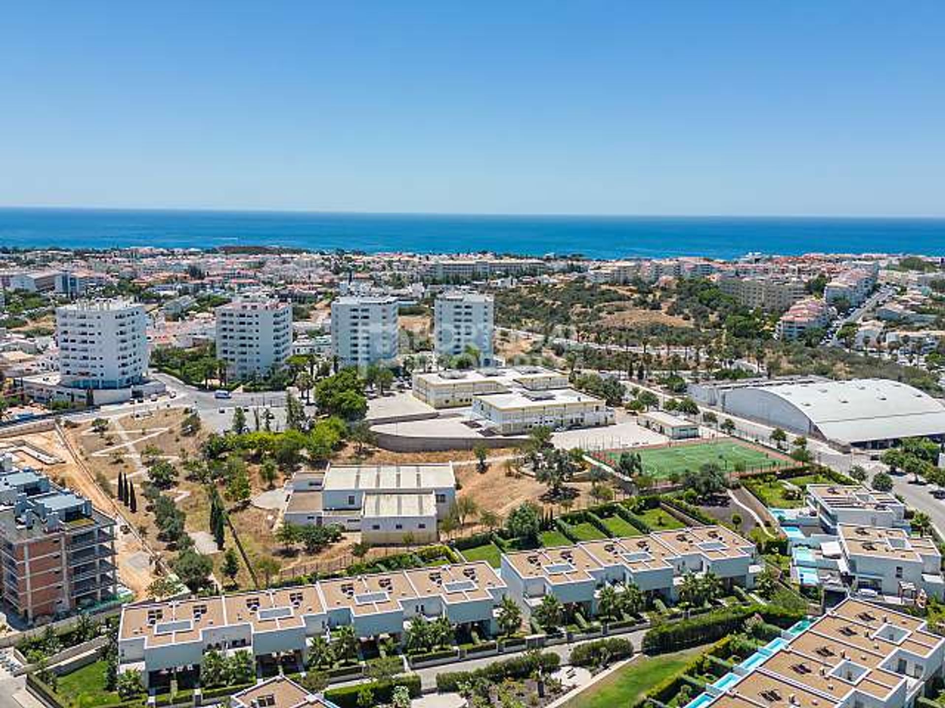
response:
<path fill-rule="evenodd" d="M 729 392 L 729 403 L 734 393 Z M 812 432 L 841 443 L 945 434 L 945 407 L 889 379 L 772 381 L 738 392 L 739 398 L 745 396 L 755 398 L 762 411 L 793 409 L 810 422 Z"/>

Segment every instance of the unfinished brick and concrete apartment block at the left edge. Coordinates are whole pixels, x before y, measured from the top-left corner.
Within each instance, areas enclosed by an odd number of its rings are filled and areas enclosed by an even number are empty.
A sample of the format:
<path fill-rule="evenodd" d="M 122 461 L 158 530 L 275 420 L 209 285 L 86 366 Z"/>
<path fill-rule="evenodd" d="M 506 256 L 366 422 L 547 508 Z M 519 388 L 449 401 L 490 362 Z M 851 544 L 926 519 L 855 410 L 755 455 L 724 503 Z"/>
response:
<path fill-rule="evenodd" d="M 27 621 L 112 600 L 114 520 L 45 476 L 0 458 L 3 598 Z"/>

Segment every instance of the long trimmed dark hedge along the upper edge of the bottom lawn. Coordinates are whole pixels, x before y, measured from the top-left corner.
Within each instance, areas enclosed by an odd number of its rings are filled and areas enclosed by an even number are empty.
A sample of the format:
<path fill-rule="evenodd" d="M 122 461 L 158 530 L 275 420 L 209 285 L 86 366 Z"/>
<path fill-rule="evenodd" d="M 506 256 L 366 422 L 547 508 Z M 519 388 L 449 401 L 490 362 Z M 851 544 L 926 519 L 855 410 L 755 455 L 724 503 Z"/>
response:
<path fill-rule="evenodd" d="M 643 649 L 646 653 L 659 654 L 715 641 L 727 634 L 740 632 L 745 620 L 752 615 L 760 615 L 765 622 L 782 628 L 790 627 L 804 616 L 802 612 L 769 605 L 727 607 L 658 625 L 644 635 Z"/>

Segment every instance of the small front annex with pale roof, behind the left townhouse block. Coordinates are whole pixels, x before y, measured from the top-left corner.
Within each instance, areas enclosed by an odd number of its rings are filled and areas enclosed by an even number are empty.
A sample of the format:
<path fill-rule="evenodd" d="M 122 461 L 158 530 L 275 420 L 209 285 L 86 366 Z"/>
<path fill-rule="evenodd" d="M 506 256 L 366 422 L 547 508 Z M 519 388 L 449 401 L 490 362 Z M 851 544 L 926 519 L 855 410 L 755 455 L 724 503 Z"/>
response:
<path fill-rule="evenodd" d="M 432 543 L 437 540 L 437 502 L 433 492 L 364 496 L 361 540 L 369 544 Z"/>

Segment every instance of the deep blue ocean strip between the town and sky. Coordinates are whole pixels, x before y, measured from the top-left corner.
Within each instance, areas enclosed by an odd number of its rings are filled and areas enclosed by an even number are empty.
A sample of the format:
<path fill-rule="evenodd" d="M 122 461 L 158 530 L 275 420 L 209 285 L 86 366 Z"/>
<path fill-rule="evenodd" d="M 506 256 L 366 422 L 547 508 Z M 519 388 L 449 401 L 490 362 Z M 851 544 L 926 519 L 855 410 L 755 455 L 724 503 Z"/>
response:
<path fill-rule="evenodd" d="M 753 251 L 945 256 L 945 219 L 0 209 L 0 246 L 237 244 L 367 252 L 581 253 L 591 258 L 731 259 Z"/>

